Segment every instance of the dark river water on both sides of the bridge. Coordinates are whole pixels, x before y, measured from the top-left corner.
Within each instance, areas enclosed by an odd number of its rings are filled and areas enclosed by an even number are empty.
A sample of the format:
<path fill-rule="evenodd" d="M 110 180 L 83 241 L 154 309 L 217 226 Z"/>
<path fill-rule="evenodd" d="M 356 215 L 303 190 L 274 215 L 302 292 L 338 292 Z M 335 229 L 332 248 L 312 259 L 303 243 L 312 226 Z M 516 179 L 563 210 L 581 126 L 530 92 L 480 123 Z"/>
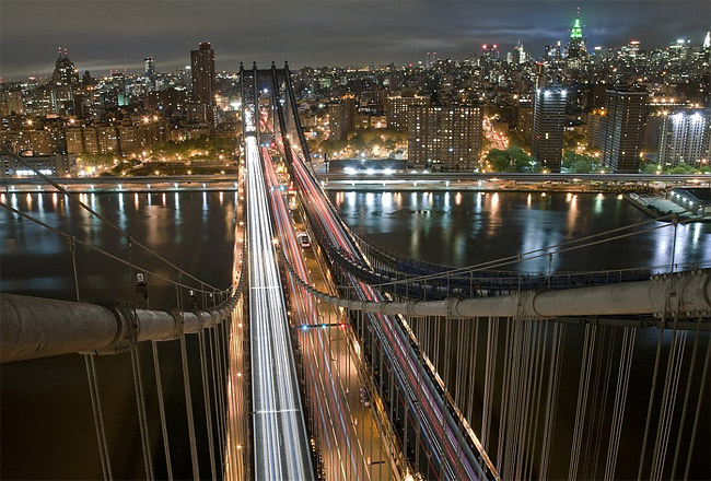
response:
<path fill-rule="evenodd" d="M 331 192 L 331 199 L 356 231 L 365 232 L 378 244 L 413 257 L 454 266 L 527 251 L 648 220 L 643 213 L 613 195 L 602 198 L 578 195 L 567 199 L 564 193 L 548 193 L 545 198 L 533 193 L 528 201 L 526 193 L 516 192 L 482 196 L 473 192 Z M 78 238 L 90 239 L 98 247 L 126 256 L 125 241 L 88 213 L 67 206 L 61 197 L 54 199 L 51 195 L 5 193 L 1 200 Z M 233 251 L 233 191 L 153 193 L 150 198 L 145 193 L 138 197 L 129 192 L 123 196 L 106 193 L 86 196 L 85 201 L 185 270 L 214 285 L 228 285 Z M 4 210 L 0 210 L 0 237 L 2 292 L 72 298 L 71 258 L 66 241 L 26 220 L 15 219 Z M 672 245 L 673 231 L 664 228 L 590 250 L 556 255 L 550 268 L 590 270 L 663 266 L 671 262 Z M 77 256 L 83 298 L 132 298 L 132 280 L 125 267 L 84 248 L 79 248 Z M 711 263 L 711 225 L 679 226 L 676 259 L 681 263 Z M 168 268 L 139 251 L 133 253 L 133 260 L 165 275 L 172 274 Z M 510 268 L 517 269 L 518 266 Z M 532 260 L 523 268 L 547 271 L 549 260 Z M 155 279 L 150 282 L 151 307 L 173 307 L 174 290 Z M 568 339 L 571 343 L 566 351 L 566 361 L 573 373 L 570 375 L 576 376 L 581 355 L 576 345 L 581 342 L 581 332 L 570 329 Z M 190 340 L 188 349 L 191 353 L 193 401 L 199 411 L 202 395 L 195 343 L 195 340 Z M 639 336 L 636 363 L 639 361 L 645 365 L 646 371 L 633 376 L 631 390 L 649 391 L 655 343 L 653 335 Z M 143 347 L 140 354 L 148 388 L 156 477 L 165 478 L 150 347 Z M 160 354 L 164 386 L 167 388 L 165 396 L 174 470 L 176 478 L 188 478 L 189 447 L 177 343 L 161 343 Z M 143 478 L 130 356 L 102 356 L 97 360 L 97 366 L 114 477 Z M 2 365 L 0 383 L 0 476 L 3 479 L 101 478 L 82 356 L 71 354 Z M 575 396 L 576 384 L 564 395 L 570 402 L 562 402 L 561 411 L 570 411 L 571 402 L 574 410 Z M 629 417 L 625 422 L 634 425 L 641 422 L 643 425 L 646 400 L 630 399 L 628 408 L 630 406 L 636 406 L 636 409 L 628 409 Z M 709 449 L 708 412 L 704 415 L 697 441 L 700 443 L 696 448 L 698 455 Z M 201 415 L 197 415 L 196 423 L 201 474 L 208 478 L 207 430 Z M 555 443 L 564 444 L 566 439 L 561 437 Z M 625 438 L 620 449 L 622 453 L 626 449 L 634 453 L 638 445 L 638 438 Z M 633 459 L 637 459 L 637 455 Z M 623 462 L 625 459 L 620 457 L 618 466 Z M 636 462 L 630 464 L 629 477 L 637 476 Z M 560 465 L 564 462 L 561 460 Z M 562 468 L 559 469 L 562 472 Z M 708 470 L 708 457 L 695 464 L 696 478 L 704 478 Z"/>

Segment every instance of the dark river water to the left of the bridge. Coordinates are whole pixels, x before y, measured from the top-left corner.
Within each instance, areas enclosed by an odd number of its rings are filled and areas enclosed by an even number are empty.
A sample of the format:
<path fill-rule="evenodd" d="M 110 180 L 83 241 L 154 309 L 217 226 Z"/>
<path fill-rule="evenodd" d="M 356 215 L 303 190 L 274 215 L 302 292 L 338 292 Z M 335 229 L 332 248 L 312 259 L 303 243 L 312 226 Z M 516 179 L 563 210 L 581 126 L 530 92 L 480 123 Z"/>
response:
<path fill-rule="evenodd" d="M 3 202 L 43 222 L 126 258 L 127 243 L 68 206 L 61 196 L 5 195 Z M 86 196 L 85 202 L 137 239 L 208 283 L 228 286 L 232 267 L 235 193 L 184 192 Z M 73 298 L 68 243 L 27 220 L 0 210 L 0 290 L 2 292 Z M 133 261 L 168 278 L 172 270 L 135 249 Z M 85 248 L 77 250 L 80 293 L 85 300 L 132 300 L 128 269 Z M 152 308 L 172 308 L 175 291 L 149 277 Z M 210 477 L 207 424 L 198 345 L 187 337 L 193 403 L 196 407 L 200 472 Z M 185 395 L 177 341 L 159 343 L 173 469 L 176 479 L 191 478 Z M 140 349 L 155 474 L 166 468 L 159 425 L 150 344 Z M 100 356 L 98 384 L 107 423 L 107 444 L 115 479 L 141 479 L 143 459 L 138 429 L 130 354 Z M 1 383 L 2 479 L 100 479 L 102 469 L 94 431 L 84 360 L 69 354 L 4 364 Z"/>

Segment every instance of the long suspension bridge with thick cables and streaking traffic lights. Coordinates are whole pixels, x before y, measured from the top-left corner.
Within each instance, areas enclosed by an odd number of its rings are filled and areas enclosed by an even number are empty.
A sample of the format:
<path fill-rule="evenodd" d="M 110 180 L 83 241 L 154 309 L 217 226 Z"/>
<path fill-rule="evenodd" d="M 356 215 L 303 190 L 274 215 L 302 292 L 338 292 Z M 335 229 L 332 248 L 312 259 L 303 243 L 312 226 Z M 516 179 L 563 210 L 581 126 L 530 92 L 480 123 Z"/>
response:
<path fill-rule="evenodd" d="M 175 477 L 163 343 L 179 350 L 187 438 L 178 444 L 194 479 L 617 479 L 622 450 L 625 472 L 633 465 L 638 479 L 704 477 L 711 271 L 674 258 L 633 270 L 520 270 L 528 259 L 676 230 L 676 216 L 459 269 L 411 259 L 354 233 L 329 202 L 311 169 L 289 67 L 241 67 L 240 79 L 229 286 L 190 274 L 40 173 L 125 251 L 1 203 L 66 241 L 74 300 L 3 293 L 0 357 L 84 356 L 105 479 L 116 465 L 102 355 L 130 356 L 144 477 L 161 477 L 159 458 Z M 121 265 L 133 295 L 84 300 L 78 248 Z M 175 291 L 172 310 L 150 308 L 155 282 Z M 638 359 L 653 366 L 644 384 Z"/>

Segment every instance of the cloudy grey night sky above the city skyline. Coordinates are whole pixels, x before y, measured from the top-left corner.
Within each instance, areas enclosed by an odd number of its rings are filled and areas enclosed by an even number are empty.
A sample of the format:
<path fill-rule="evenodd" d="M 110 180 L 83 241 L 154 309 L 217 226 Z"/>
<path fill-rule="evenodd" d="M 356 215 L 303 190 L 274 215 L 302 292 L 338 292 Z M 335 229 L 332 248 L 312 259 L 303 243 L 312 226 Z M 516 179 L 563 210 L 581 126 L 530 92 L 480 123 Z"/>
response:
<path fill-rule="evenodd" d="M 518 39 L 539 57 L 544 45 L 564 43 L 578 7 L 591 48 L 631 38 L 643 47 L 678 37 L 700 45 L 711 24 L 709 0 L 1 0 L 0 75 L 51 73 L 58 46 L 93 74 L 138 71 L 147 56 L 159 71 L 173 71 L 189 62 L 198 42 L 212 43 L 219 70 L 272 59 L 295 67 L 403 64 L 427 51 L 465 58 L 482 43 L 509 50 Z"/>

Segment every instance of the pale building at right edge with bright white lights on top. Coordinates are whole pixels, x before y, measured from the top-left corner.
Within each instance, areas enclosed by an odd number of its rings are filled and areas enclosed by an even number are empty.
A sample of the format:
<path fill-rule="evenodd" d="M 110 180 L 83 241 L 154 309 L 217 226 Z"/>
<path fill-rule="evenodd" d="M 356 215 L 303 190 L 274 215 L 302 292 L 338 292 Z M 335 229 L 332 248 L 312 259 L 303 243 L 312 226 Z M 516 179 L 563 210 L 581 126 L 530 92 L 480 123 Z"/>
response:
<path fill-rule="evenodd" d="M 658 163 L 709 165 L 711 161 L 711 109 L 677 112 L 662 120 Z"/>

